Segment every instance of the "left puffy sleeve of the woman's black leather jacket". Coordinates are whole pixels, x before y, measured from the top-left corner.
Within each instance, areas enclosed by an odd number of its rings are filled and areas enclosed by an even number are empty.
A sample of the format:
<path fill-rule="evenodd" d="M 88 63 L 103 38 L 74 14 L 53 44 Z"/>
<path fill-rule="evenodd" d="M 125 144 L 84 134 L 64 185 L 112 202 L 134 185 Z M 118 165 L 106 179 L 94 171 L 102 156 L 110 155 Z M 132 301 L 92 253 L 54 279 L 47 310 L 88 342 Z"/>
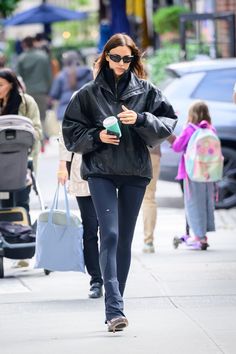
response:
<path fill-rule="evenodd" d="M 100 130 L 93 126 L 85 112 L 81 100 L 82 91 L 76 92 L 70 100 L 62 122 L 62 134 L 66 148 L 71 152 L 87 154 L 97 150 L 102 142 L 99 139 Z M 83 91 L 86 96 L 86 92 Z"/>

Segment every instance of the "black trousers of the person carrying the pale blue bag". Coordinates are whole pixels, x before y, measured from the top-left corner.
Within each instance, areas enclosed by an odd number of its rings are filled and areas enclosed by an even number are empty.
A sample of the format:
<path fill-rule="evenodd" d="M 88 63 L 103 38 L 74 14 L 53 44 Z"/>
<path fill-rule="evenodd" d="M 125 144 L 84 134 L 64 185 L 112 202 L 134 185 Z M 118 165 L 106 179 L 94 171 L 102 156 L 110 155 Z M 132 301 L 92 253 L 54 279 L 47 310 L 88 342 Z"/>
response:
<path fill-rule="evenodd" d="M 98 220 L 93 205 L 92 198 L 76 197 L 79 205 L 82 224 L 84 228 L 84 261 L 89 275 L 91 276 L 90 284 L 103 284 L 98 252 Z"/>

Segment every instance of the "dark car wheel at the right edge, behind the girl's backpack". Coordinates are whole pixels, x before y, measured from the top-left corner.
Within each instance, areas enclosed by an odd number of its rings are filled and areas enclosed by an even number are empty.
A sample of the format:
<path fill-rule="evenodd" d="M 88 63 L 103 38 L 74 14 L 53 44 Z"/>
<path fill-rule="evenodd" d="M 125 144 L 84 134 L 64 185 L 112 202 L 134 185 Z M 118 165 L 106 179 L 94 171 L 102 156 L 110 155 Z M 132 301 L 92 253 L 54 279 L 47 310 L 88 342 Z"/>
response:
<path fill-rule="evenodd" d="M 217 209 L 229 209 L 236 206 L 236 152 L 231 148 L 222 148 L 224 155 L 223 179 L 218 186 Z"/>

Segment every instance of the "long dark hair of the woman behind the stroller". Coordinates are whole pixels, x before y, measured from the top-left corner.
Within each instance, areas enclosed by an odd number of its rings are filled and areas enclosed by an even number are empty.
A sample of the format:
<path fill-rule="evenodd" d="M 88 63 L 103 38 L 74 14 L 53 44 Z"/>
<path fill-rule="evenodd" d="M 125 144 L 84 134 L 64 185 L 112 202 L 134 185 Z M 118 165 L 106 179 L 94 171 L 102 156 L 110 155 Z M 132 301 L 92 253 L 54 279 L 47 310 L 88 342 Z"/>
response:
<path fill-rule="evenodd" d="M 14 71 L 9 68 L 0 69 L 0 78 L 5 79 L 12 84 L 12 88 L 9 92 L 9 97 L 7 99 L 7 104 L 5 107 L 3 107 L 1 115 L 18 114 L 19 106 L 22 102 L 20 92 L 23 92 L 23 88 Z M 2 106 L 2 104 L 3 100 L 0 100 L 0 105 Z"/>

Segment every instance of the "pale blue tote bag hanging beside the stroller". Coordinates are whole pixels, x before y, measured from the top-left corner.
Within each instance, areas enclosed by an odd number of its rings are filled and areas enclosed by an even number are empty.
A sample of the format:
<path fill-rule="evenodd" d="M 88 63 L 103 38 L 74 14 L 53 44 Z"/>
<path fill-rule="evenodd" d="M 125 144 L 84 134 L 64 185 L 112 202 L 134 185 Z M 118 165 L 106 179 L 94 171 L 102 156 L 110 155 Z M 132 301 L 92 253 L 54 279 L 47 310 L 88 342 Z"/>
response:
<path fill-rule="evenodd" d="M 66 210 L 57 209 L 58 193 L 59 185 L 51 209 L 43 211 L 38 218 L 35 268 L 85 272 L 81 221 L 69 210 L 65 185 Z"/>

